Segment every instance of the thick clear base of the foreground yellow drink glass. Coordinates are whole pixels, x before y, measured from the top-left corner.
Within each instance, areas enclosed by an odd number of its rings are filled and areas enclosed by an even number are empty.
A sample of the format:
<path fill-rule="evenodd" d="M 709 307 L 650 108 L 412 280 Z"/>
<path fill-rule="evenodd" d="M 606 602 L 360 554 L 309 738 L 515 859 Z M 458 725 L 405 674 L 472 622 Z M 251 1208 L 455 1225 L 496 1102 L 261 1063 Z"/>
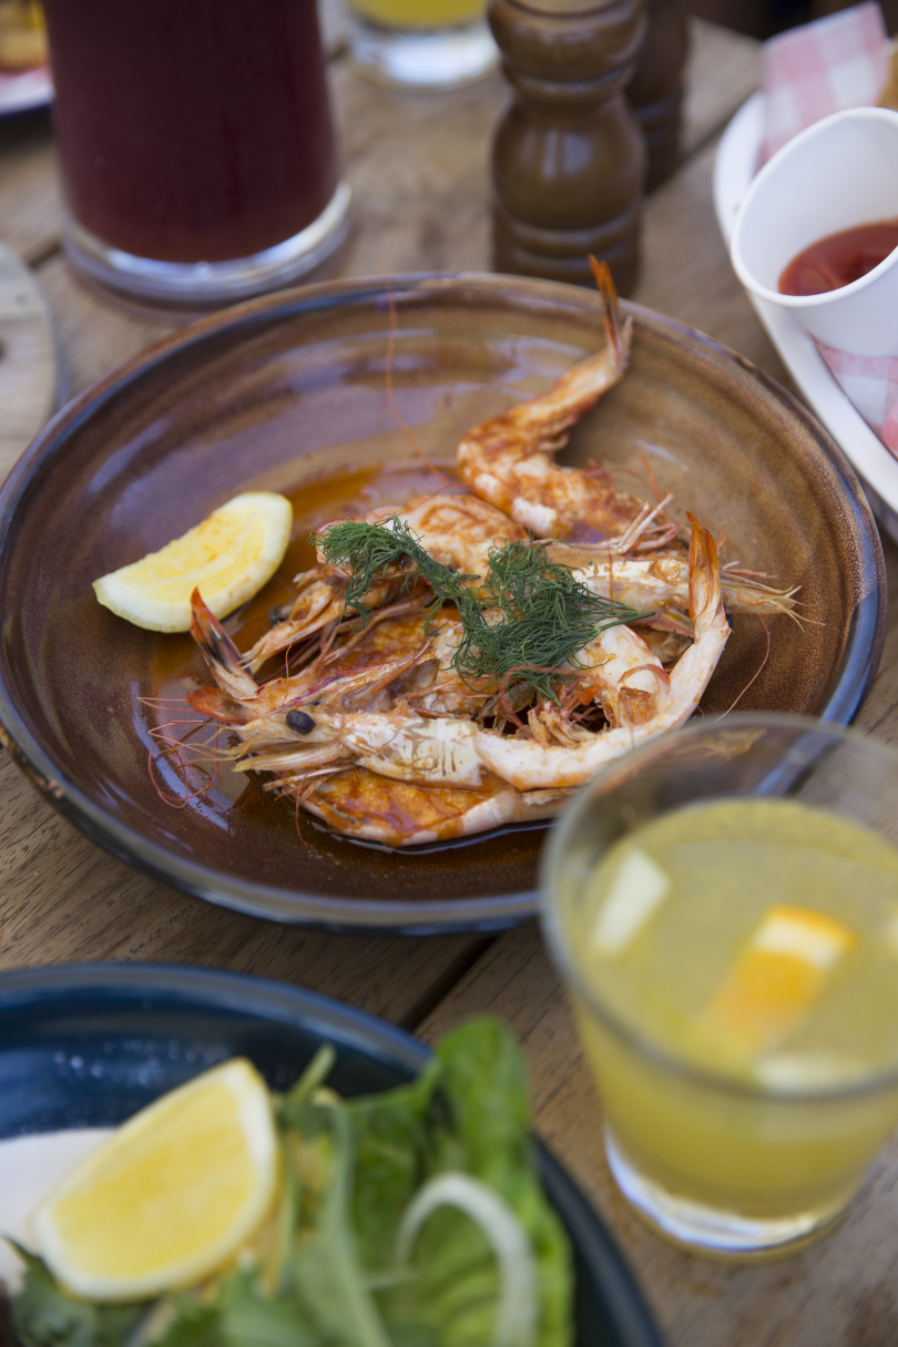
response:
<path fill-rule="evenodd" d="M 660 1234 L 696 1253 L 724 1257 L 788 1254 L 821 1234 L 845 1206 L 839 1202 L 796 1216 L 753 1220 L 735 1211 L 707 1207 L 668 1192 L 637 1168 L 607 1125 L 605 1150 L 621 1192 L 637 1212 Z"/>

